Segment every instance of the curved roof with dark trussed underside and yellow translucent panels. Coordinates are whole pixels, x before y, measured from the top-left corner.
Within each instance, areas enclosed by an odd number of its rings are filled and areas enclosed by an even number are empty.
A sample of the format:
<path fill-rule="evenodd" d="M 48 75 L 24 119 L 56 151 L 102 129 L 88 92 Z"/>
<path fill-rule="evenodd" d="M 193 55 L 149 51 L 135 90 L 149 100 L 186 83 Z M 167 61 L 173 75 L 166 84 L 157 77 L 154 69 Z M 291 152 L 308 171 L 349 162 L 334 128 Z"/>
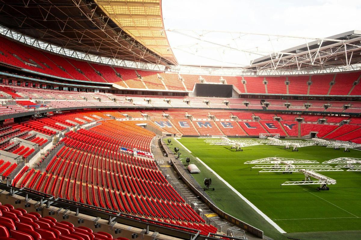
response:
<path fill-rule="evenodd" d="M 1 24 L 38 40 L 109 58 L 177 64 L 161 31 L 160 0 L 1 2 Z"/>

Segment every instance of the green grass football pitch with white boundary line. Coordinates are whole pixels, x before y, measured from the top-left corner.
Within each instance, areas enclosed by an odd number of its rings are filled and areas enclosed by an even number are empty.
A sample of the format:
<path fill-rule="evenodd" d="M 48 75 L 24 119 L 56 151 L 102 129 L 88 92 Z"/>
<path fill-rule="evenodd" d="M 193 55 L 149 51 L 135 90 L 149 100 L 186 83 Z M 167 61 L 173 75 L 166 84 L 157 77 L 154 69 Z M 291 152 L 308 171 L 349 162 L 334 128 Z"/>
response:
<path fill-rule="evenodd" d="M 329 191 L 318 191 L 316 188 L 319 185 L 280 186 L 286 181 L 304 180 L 301 173 L 258 173 L 260 169 L 251 171 L 251 166 L 244 162 L 281 157 L 322 163 L 339 157 L 361 158 L 361 151 L 351 149 L 348 153 L 322 146 L 307 146 L 300 148 L 299 152 L 292 152 L 283 146 L 271 145 L 250 146 L 236 151 L 230 146 L 209 145 L 204 142 L 205 139 L 182 137 L 171 140 L 173 149 L 179 147 L 182 162 L 185 163 L 185 158 L 190 157 L 191 163 L 201 170 L 201 173 L 192 175 L 201 186 L 204 186 L 205 177 L 212 178 L 211 187 L 215 190 L 208 190 L 207 193 L 217 206 L 263 230 L 266 236 L 273 239 L 286 239 L 286 236 L 300 239 L 357 239 L 360 236 L 360 172 L 320 172 L 335 179 L 337 184 L 329 185 Z M 214 173 L 287 233 L 281 234 Z"/>

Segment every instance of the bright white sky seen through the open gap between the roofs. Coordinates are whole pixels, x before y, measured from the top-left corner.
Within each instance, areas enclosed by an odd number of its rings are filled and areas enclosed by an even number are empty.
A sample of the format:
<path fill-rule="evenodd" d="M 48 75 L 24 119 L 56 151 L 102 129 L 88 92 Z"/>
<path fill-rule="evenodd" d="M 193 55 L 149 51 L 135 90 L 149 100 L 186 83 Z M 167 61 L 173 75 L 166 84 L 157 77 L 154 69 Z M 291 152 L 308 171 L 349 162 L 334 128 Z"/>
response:
<path fill-rule="evenodd" d="M 268 36 L 238 32 L 323 38 L 361 30 L 360 12 L 360 0 L 162 0 L 166 30 L 225 31 L 166 31 L 181 65 L 249 65 L 273 49 L 282 51 L 305 44 L 305 40 L 271 36 L 269 41 Z"/>

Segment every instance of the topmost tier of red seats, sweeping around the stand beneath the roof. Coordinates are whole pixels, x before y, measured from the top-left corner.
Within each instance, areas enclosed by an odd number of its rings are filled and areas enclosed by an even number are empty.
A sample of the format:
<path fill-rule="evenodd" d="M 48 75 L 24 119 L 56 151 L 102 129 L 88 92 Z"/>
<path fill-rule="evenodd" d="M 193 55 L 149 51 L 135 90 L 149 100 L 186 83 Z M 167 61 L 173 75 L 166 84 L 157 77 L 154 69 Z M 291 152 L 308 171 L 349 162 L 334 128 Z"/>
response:
<path fill-rule="evenodd" d="M 0 37 L 0 62 L 10 64 L 21 69 L 26 69 L 51 76 L 68 78 L 71 80 L 112 82 L 124 88 L 131 89 L 152 89 L 152 90 L 175 90 L 192 91 L 195 83 L 201 83 L 204 79 L 207 83 L 220 83 L 223 80 L 227 84 L 234 85 L 241 93 L 266 93 L 269 94 L 287 94 L 286 80 L 288 80 L 289 94 L 312 94 L 312 95 L 361 95 L 361 85 L 353 84 L 358 80 L 360 72 L 321 74 L 310 76 L 279 76 L 279 77 L 251 77 L 246 76 L 214 76 L 163 73 L 146 71 L 141 69 L 125 69 L 118 66 L 110 66 L 98 63 L 90 63 L 82 60 L 76 60 L 62 55 L 49 53 L 37 48 L 9 40 L 6 37 Z M 79 69 L 80 71 L 78 71 Z M 97 74 L 99 71 L 101 76 Z M 140 80 L 137 76 L 143 79 Z M 117 76 L 116 73 L 121 75 Z M 159 77 L 158 77 L 159 74 Z M 335 77 L 334 85 L 330 82 Z M 264 80 L 267 81 L 265 86 Z M 312 85 L 308 86 L 308 81 Z M 182 82 L 183 81 L 183 82 Z M 184 83 L 184 85 L 183 85 Z M 186 86 L 186 88 L 184 88 Z M 308 93 L 309 88 L 309 93 Z"/>

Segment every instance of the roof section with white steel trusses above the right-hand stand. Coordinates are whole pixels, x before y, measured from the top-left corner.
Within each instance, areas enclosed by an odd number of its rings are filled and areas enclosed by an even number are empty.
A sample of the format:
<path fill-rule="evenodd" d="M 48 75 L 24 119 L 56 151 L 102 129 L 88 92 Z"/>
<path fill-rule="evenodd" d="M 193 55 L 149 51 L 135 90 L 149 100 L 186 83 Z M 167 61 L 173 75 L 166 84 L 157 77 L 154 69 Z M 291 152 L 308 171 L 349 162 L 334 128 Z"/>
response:
<path fill-rule="evenodd" d="M 264 69 L 349 68 L 361 62 L 361 31 L 349 31 L 335 36 L 282 50 L 251 61 L 246 67 Z"/>

